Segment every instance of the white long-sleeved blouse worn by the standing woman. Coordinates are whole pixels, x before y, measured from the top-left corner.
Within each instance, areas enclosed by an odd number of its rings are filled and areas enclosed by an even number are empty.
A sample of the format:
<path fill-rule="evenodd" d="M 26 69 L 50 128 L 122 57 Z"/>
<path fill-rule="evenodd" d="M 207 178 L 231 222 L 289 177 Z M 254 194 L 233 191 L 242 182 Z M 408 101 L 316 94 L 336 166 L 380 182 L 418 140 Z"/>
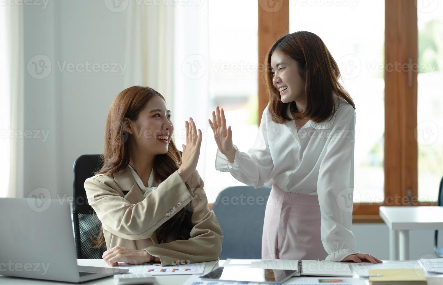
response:
<path fill-rule="evenodd" d="M 351 231 L 356 114 L 335 94 L 334 102 L 337 111 L 329 120 L 309 120 L 298 132 L 294 120 L 274 123 L 266 107 L 248 153 L 234 146 L 229 163 L 217 150 L 215 167 L 255 188 L 275 184 L 288 193 L 318 195 L 326 260 L 342 261 L 360 253 Z"/>

